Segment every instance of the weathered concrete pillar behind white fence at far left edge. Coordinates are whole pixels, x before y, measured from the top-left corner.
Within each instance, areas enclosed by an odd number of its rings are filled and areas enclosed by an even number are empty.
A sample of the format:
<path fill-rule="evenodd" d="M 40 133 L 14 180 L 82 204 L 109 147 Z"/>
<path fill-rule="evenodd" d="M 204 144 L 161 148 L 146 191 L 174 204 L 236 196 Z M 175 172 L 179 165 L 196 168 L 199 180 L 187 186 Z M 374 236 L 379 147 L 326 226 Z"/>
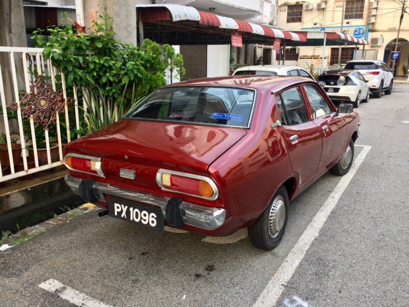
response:
<path fill-rule="evenodd" d="M 27 47 L 26 23 L 22 1 L 0 0 L 0 20 L 2 20 L 0 23 L 0 46 Z M 25 89 L 21 58 L 15 56 L 14 59 L 18 89 Z M 9 53 L 0 52 L 0 64 L 2 66 L 6 104 L 9 104 L 14 100 Z M 3 116 L 0 116 L 0 130 L 4 131 Z"/>

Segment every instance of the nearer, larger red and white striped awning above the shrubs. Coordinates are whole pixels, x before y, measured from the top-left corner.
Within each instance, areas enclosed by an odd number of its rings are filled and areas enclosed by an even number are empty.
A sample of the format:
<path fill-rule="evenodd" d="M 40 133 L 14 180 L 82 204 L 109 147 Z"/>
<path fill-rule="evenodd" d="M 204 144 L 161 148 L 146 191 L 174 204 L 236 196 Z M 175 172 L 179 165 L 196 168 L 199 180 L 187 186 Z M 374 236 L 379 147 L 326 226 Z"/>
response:
<path fill-rule="evenodd" d="M 193 7 L 177 4 L 148 4 L 137 5 L 138 8 L 156 8 L 155 12 L 149 12 L 142 15 L 142 21 L 158 20 L 196 20 L 200 25 L 218 27 L 221 29 L 238 30 L 241 32 L 250 32 L 258 35 L 278 37 L 296 41 L 306 41 L 305 36 L 289 31 L 273 29 L 267 26 L 247 23 L 247 21 L 238 20 L 230 17 L 219 16 L 213 13 L 198 11 Z M 167 14 L 166 9 L 170 14 Z"/>

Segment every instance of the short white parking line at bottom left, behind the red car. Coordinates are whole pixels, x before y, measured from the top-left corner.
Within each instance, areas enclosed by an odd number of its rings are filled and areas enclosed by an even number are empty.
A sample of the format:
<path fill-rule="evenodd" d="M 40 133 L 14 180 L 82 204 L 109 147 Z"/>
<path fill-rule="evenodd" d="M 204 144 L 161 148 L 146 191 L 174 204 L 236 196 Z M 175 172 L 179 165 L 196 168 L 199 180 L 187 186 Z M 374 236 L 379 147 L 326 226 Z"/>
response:
<path fill-rule="evenodd" d="M 46 280 L 38 285 L 38 287 L 47 290 L 48 292 L 55 293 L 59 297 L 73 303 L 77 306 L 83 307 L 112 307 L 111 305 L 104 304 L 99 300 L 89 297 L 77 290 L 64 286 L 61 282 L 55 279 Z"/>

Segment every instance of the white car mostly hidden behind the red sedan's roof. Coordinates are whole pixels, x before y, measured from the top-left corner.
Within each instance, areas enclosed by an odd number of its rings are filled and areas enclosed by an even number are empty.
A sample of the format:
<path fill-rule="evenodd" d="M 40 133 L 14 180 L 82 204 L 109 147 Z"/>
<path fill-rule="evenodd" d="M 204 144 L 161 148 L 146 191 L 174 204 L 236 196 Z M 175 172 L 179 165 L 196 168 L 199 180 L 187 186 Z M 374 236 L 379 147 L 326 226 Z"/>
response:
<path fill-rule="evenodd" d="M 316 79 L 305 69 L 298 66 L 287 65 L 253 65 L 244 66 L 236 69 L 233 76 L 237 75 L 281 75 L 281 76 L 300 76 Z"/>

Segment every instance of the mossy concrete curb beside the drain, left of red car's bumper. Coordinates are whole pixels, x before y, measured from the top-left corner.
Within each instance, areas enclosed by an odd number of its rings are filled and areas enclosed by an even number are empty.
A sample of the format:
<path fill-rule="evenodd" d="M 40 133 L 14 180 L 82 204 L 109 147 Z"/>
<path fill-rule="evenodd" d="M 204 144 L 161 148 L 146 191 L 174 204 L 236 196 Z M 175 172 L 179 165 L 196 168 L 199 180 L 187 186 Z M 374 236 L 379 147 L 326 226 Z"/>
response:
<path fill-rule="evenodd" d="M 26 229 L 20 230 L 19 232 L 12 234 L 8 236 L 7 238 L 3 239 L 2 246 L 0 246 L 0 251 L 7 250 L 15 245 L 18 245 L 22 242 L 25 242 L 40 233 L 47 231 L 50 228 L 53 228 L 57 225 L 61 225 L 63 223 L 69 223 L 69 220 L 75 216 L 82 215 L 85 212 L 91 212 L 98 210 L 99 207 L 86 203 L 78 208 L 75 208 L 71 211 L 67 211 L 64 213 L 61 213 L 60 215 L 50 218 L 50 220 L 42 222 L 40 224 L 27 227 Z"/>

